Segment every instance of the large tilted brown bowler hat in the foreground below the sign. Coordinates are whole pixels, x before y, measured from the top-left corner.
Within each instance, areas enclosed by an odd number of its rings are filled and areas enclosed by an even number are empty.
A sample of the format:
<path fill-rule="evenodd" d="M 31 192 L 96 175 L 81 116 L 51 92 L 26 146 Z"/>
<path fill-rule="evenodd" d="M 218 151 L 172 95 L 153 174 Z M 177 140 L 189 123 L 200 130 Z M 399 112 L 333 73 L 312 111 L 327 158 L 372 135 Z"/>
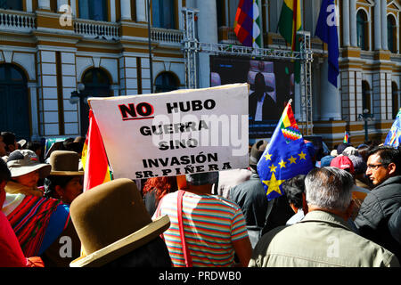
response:
<path fill-rule="evenodd" d="M 107 265 L 170 225 L 168 216 L 151 220 L 135 183 L 127 178 L 85 191 L 72 201 L 70 215 L 84 252 L 70 267 Z"/>

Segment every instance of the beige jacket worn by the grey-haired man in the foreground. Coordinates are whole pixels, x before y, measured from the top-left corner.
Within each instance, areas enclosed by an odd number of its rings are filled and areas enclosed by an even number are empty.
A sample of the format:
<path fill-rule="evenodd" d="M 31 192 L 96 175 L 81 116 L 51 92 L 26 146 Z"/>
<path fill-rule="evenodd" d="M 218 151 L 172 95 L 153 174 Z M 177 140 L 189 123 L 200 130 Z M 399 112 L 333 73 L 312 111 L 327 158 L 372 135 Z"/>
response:
<path fill-rule="evenodd" d="M 298 224 L 267 232 L 250 267 L 399 267 L 397 257 L 351 232 L 346 221 L 323 211 L 309 212 Z"/>

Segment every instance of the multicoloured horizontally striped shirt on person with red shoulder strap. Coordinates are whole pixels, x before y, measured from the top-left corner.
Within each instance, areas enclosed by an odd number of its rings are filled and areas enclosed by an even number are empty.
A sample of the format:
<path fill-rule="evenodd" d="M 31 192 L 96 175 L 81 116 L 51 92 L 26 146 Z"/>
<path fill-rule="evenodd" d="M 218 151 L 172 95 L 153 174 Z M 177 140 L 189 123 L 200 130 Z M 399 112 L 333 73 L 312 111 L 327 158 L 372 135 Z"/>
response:
<path fill-rule="evenodd" d="M 177 220 L 177 194 L 169 193 L 161 201 L 153 219 L 168 215 L 170 227 L 163 233 L 173 265 L 185 266 Z M 241 208 L 216 195 L 198 195 L 185 191 L 183 197 L 185 240 L 193 267 L 223 267 L 234 263 L 233 241 L 248 237 Z"/>

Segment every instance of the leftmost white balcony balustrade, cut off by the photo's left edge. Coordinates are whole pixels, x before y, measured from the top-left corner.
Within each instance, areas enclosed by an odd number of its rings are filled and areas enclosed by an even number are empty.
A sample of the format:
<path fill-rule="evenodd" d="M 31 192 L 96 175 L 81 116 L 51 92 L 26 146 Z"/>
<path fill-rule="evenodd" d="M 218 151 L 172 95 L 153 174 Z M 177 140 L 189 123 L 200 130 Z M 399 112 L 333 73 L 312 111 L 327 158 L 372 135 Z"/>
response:
<path fill-rule="evenodd" d="M 37 28 L 35 14 L 0 9 L 0 28 L 4 30 L 29 32 Z"/>

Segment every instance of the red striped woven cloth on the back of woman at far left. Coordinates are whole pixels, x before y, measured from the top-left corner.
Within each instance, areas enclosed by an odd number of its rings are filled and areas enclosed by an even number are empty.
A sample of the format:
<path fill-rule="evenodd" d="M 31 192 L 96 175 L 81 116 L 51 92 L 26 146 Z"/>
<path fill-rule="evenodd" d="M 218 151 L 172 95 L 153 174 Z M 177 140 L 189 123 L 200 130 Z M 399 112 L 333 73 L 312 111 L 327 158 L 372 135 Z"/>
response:
<path fill-rule="evenodd" d="M 58 199 L 29 195 L 7 215 L 25 256 L 39 255 L 50 217 L 59 205 Z"/>

